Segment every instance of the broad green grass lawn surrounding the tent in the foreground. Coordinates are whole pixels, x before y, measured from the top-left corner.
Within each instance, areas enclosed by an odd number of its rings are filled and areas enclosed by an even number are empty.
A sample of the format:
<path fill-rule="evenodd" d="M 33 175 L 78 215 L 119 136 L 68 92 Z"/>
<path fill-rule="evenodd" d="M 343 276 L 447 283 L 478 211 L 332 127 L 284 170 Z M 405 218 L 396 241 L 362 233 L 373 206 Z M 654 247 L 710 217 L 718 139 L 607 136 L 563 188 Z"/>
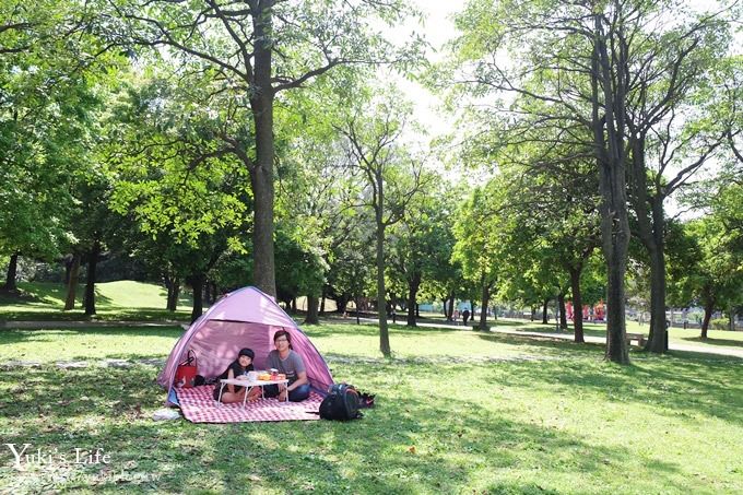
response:
<path fill-rule="evenodd" d="M 337 380 L 377 393 L 352 423 L 157 423 L 156 366 L 178 328 L 3 330 L 2 443 L 108 464 L 17 471 L 0 449 L 0 492 L 741 493 L 743 360 L 693 353 L 602 361 L 599 345 L 393 327 L 305 329 Z M 52 363 L 85 360 L 59 369 Z"/>

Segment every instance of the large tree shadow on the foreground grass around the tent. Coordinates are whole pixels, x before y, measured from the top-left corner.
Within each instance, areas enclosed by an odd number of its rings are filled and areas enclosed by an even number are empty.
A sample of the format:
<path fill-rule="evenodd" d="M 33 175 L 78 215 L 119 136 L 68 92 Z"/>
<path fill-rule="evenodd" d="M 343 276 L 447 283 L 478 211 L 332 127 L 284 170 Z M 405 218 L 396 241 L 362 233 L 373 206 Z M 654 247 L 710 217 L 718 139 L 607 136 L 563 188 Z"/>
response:
<path fill-rule="evenodd" d="M 540 366 L 519 367 L 534 372 Z M 674 463 L 648 462 L 624 447 L 507 417 L 479 402 L 452 399 L 446 390 L 390 387 L 377 409 L 352 423 L 155 423 L 140 413 L 164 396 L 152 385 L 151 373 L 143 367 L 105 374 L 12 373 L 3 381 L 17 382 L 16 388 L 9 390 L 5 382 L 0 389 L 5 403 L 0 414 L 11 425 L 3 441 L 110 453 L 110 465 L 82 468 L 76 479 L 54 485 L 62 490 L 458 493 L 476 487 L 556 493 L 559 487 L 550 484 L 562 478 L 588 483 L 618 468 L 641 470 L 654 486 L 683 491 L 672 478 L 679 472 Z M 504 479 L 472 485 L 493 473 Z"/>

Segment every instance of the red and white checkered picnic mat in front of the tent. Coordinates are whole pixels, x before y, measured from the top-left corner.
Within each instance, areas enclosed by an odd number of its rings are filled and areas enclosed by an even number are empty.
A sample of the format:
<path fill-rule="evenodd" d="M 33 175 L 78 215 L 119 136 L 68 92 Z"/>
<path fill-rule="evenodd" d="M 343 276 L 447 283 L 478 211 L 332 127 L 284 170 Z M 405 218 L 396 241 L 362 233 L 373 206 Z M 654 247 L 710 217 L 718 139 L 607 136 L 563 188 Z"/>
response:
<path fill-rule="evenodd" d="M 243 423 L 250 421 L 307 421 L 319 420 L 322 397 L 310 392 L 302 402 L 279 402 L 259 399 L 243 403 L 221 404 L 212 396 L 214 386 L 178 388 L 176 394 L 184 416 L 192 423 Z"/>

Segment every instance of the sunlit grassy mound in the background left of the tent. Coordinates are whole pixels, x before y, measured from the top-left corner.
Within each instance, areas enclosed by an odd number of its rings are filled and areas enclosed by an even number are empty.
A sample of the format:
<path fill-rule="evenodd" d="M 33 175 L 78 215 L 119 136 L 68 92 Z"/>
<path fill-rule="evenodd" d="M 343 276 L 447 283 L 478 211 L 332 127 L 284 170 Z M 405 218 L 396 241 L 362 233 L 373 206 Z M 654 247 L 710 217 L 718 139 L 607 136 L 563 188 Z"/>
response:
<path fill-rule="evenodd" d="M 59 283 L 19 283 L 21 299 L 0 296 L 0 319 L 4 320 L 84 320 L 83 285 L 78 287 L 75 309 L 63 311 L 67 288 Z M 188 321 L 191 311 L 190 294 L 182 294 L 178 310 L 165 308 L 167 291 L 152 283 L 118 281 L 95 285 L 96 320 L 122 321 Z"/>

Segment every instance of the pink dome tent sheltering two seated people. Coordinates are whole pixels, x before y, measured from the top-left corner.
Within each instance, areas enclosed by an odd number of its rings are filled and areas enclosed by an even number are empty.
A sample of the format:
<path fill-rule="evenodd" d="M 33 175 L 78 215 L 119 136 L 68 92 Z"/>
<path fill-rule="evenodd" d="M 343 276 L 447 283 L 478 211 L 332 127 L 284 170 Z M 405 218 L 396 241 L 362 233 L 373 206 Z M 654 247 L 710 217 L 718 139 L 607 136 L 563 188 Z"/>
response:
<path fill-rule="evenodd" d="M 224 372 L 243 347 L 256 352 L 256 369 L 266 369 L 266 358 L 275 349 L 273 334 L 279 330 L 286 330 L 292 337 L 292 347 L 305 363 L 309 385 L 326 394 L 333 378 L 325 360 L 273 298 L 256 287 L 243 287 L 225 295 L 191 323 L 173 347 L 157 382 L 168 390 L 168 401 L 174 402 L 175 394 L 170 392 L 176 368 L 189 350 L 197 356 L 199 375 L 205 378 Z"/>

